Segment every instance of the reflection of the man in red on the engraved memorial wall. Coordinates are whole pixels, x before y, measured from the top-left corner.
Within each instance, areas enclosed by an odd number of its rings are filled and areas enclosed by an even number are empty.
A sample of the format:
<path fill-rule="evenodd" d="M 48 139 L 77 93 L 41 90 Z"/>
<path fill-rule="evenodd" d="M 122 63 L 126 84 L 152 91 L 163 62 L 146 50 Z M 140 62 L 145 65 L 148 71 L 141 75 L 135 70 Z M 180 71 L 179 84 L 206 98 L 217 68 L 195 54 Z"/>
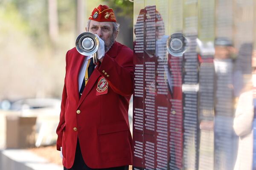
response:
<path fill-rule="evenodd" d="M 154 26 L 150 28 L 149 25 L 153 22 Z M 156 10 L 156 6 L 146 6 L 140 10 L 134 33 L 137 38 L 134 42 L 134 64 L 144 64 L 145 77 L 143 98 L 134 98 L 134 105 L 144 108 L 144 129 L 133 131 L 134 141 L 143 143 L 143 155 L 139 157 L 134 154 L 134 167 L 181 169 L 183 166 L 182 56 L 174 57 L 166 54 L 166 41 L 169 36 L 165 35 L 163 18 Z M 142 34 L 143 49 L 139 50 Z M 154 43 L 147 41 L 152 36 L 155 38 Z M 155 48 L 151 48 L 152 46 Z M 149 66 L 146 65 L 149 64 L 151 68 L 148 69 Z M 151 73 L 151 77 L 147 73 Z M 144 103 L 144 107 L 140 106 L 140 103 Z M 150 110 L 152 108 L 154 111 Z M 148 127 L 151 125 L 152 128 L 149 129 L 146 125 Z M 147 142 L 154 143 L 154 150 L 148 151 Z M 137 154 L 138 150 L 134 142 L 134 153 Z M 143 167 L 141 167 L 142 163 Z"/>

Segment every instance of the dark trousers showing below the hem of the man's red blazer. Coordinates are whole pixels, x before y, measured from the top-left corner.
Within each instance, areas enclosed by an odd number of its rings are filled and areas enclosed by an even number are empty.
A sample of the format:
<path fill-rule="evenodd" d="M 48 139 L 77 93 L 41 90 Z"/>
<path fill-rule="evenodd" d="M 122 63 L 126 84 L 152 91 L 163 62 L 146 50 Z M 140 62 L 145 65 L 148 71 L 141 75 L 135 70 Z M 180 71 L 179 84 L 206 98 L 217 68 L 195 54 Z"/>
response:
<path fill-rule="evenodd" d="M 77 144 L 76 144 L 76 156 L 75 156 L 75 161 L 73 166 L 70 169 L 67 169 L 66 167 L 64 167 L 64 170 L 128 170 L 129 166 L 123 166 L 123 167 L 111 167 L 111 168 L 103 168 L 103 169 L 92 169 L 90 167 L 88 167 L 85 163 L 84 163 L 84 159 L 81 153 L 81 149 L 80 149 L 80 144 L 79 144 L 79 140 L 77 139 Z"/>

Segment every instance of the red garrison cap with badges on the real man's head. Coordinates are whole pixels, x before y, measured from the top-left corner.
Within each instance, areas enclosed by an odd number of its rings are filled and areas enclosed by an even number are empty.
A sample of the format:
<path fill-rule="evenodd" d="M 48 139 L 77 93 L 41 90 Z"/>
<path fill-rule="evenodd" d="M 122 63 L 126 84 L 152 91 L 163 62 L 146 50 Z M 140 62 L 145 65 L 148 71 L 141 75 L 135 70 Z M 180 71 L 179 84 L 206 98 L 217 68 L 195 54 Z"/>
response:
<path fill-rule="evenodd" d="M 89 20 L 98 22 L 116 22 L 116 17 L 112 8 L 109 8 L 106 5 L 99 5 L 97 8 L 93 9 Z"/>

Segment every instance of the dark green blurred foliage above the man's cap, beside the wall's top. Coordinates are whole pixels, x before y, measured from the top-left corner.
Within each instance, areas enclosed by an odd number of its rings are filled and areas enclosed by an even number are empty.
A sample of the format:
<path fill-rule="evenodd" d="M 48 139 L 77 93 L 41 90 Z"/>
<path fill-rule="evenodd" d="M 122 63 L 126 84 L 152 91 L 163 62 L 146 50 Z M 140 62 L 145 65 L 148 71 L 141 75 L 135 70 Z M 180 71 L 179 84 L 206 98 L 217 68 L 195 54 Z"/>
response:
<path fill-rule="evenodd" d="M 102 0 L 107 2 L 110 8 L 113 8 L 118 17 L 133 18 L 133 5 L 134 3 L 129 0 Z"/>

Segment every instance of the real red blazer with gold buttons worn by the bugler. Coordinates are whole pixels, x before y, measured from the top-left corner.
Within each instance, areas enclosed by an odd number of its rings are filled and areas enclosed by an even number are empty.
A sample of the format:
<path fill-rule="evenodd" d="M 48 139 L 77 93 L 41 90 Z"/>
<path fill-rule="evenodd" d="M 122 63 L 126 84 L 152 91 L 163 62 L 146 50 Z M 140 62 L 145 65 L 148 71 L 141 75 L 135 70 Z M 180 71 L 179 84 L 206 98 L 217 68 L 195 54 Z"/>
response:
<path fill-rule="evenodd" d="M 79 99 L 78 76 L 83 60 L 76 48 L 67 52 L 60 122 L 56 130 L 57 150 L 62 146 L 63 165 L 72 167 L 77 138 L 88 167 L 132 164 L 128 108 L 133 94 L 133 51 L 115 42 L 102 63 L 96 66 Z M 102 78 L 108 82 L 107 94 L 96 90 Z"/>

